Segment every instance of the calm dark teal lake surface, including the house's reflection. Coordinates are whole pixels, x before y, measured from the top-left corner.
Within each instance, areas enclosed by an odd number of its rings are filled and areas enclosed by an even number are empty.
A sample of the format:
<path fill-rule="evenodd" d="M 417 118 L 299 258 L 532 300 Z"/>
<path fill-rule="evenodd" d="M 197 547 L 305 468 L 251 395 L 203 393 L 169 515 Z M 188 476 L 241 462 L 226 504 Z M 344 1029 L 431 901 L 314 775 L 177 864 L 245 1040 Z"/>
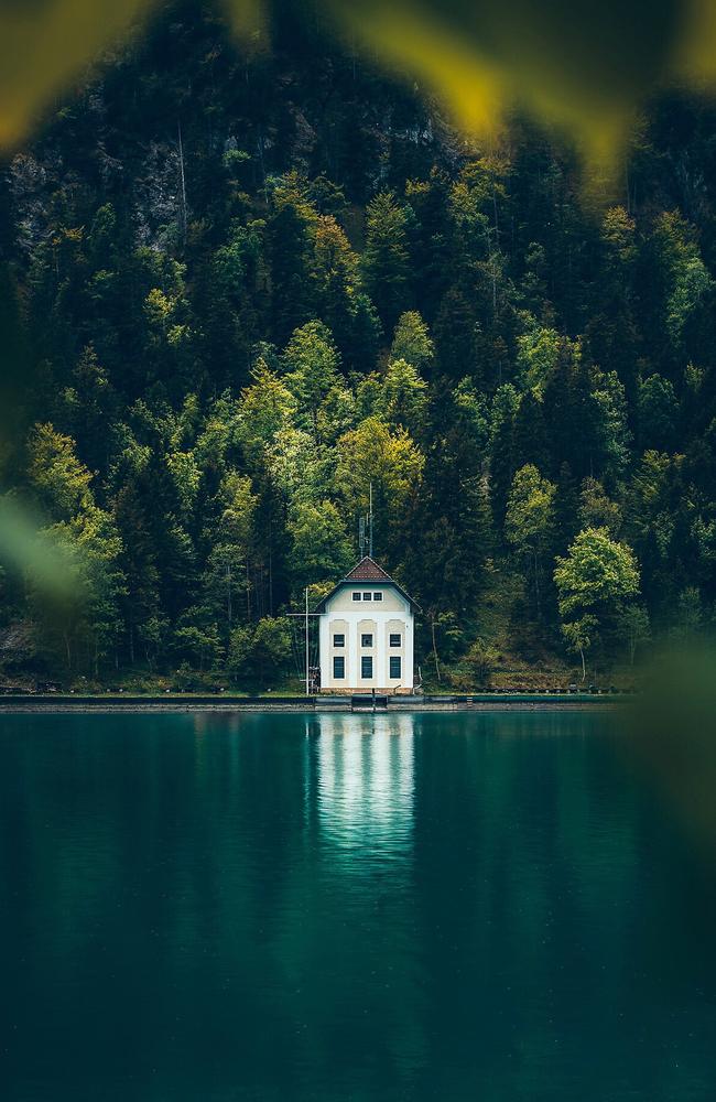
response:
<path fill-rule="evenodd" d="M 604 724 L 0 716 L 0 1098 L 713 1102 L 716 873 Z"/>

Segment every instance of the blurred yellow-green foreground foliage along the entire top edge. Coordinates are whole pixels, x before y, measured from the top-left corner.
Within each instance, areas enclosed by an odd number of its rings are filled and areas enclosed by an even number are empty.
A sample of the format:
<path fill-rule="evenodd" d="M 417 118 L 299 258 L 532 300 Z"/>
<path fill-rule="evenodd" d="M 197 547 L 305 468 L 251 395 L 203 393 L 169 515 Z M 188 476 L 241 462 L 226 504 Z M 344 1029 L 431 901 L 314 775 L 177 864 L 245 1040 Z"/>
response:
<path fill-rule="evenodd" d="M 238 35 L 270 41 L 283 19 L 321 18 L 389 68 L 424 79 L 470 133 L 521 104 L 566 128 L 590 156 L 623 144 L 665 80 L 716 76 L 710 0 L 215 0 Z M 10 0 L 0 9 L 0 145 L 25 138 L 53 98 L 141 26 L 162 0 Z"/>

